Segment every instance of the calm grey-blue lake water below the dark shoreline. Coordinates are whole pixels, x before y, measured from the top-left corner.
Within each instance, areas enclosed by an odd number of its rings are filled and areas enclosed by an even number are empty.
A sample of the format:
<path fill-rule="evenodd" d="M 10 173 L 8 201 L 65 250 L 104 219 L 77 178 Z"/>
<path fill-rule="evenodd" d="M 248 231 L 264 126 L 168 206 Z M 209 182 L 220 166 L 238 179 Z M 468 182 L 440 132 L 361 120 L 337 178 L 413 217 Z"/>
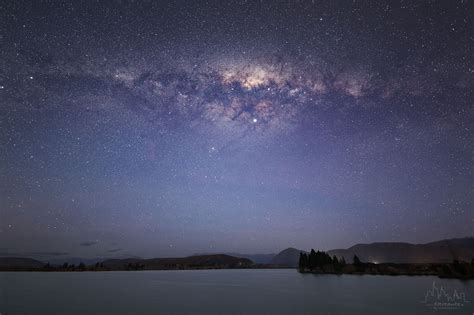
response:
<path fill-rule="evenodd" d="M 461 298 L 446 300 L 453 296 Z M 436 277 L 317 276 L 287 269 L 0 273 L 1 315 L 472 315 L 473 300 L 474 281 Z"/>

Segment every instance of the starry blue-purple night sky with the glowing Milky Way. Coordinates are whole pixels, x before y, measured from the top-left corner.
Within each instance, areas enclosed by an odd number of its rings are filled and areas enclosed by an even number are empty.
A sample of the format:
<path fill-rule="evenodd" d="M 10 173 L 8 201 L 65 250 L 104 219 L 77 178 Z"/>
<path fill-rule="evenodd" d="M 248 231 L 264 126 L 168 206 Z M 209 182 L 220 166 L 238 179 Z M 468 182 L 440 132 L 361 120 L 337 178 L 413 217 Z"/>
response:
<path fill-rule="evenodd" d="M 2 1 L 0 254 L 472 235 L 472 12 Z"/>

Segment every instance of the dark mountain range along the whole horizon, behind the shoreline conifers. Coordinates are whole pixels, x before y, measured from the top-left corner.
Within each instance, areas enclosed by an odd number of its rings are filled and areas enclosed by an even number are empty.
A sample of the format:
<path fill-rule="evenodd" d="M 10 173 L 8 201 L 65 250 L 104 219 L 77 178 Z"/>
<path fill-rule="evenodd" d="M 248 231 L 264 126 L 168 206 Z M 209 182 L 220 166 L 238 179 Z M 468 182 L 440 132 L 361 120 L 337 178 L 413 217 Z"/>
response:
<path fill-rule="evenodd" d="M 317 248 L 315 248 L 317 249 Z M 78 265 L 102 263 L 110 268 L 127 269 L 130 266 L 139 266 L 142 269 L 173 269 L 173 268 L 239 268 L 254 264 L 275 265 L 278 267 L 295 268 L 298 266 L 300 253 L 306 251 L 297 248 L 287 248 L 278 254 L 206 254 L 179 258 L 152 258 L 138 257 L 114 259 L 81 259 L 65 257 L 51 260 L 36 260 L 24 257 L 0 257 L 2 270 L 28 270 L 42 268 L 49 262 L 51 265 L 62 265 L 62 261 Z M 347 249 L 333 249 L 329 255 L 344 257 L 351 263 L 354 255 L 362 262 L 373 263 L 451 263 L 459 261 L 470 262 L 474 259 L 474 237 L 444 239 L 426 244 L 411 244 L 402 242 L 377 242 L 371 244 L 356 244 Z"/>

